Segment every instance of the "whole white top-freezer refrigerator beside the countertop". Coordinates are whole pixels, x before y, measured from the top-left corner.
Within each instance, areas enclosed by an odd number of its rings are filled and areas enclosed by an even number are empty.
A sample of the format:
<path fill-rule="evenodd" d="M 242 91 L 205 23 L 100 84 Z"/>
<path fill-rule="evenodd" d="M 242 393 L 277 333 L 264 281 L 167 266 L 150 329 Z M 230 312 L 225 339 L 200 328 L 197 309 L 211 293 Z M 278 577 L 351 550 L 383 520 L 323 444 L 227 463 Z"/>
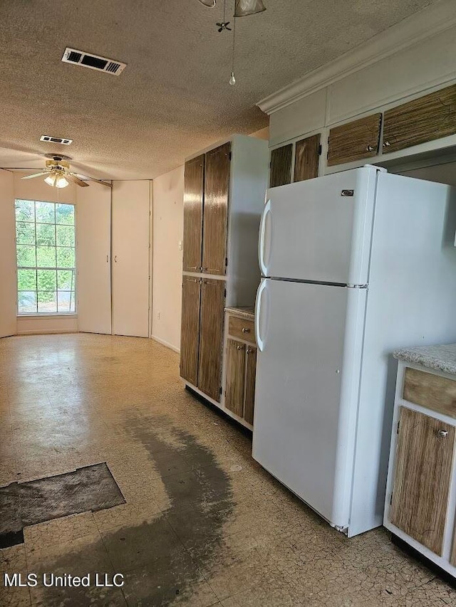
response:
<path fill-rule="evenodd" d="M 456 341 L 456 192 L 363 167 L 271 188 L 253 457 L 351 537 L 382 523 L 396 347 Z"/>

